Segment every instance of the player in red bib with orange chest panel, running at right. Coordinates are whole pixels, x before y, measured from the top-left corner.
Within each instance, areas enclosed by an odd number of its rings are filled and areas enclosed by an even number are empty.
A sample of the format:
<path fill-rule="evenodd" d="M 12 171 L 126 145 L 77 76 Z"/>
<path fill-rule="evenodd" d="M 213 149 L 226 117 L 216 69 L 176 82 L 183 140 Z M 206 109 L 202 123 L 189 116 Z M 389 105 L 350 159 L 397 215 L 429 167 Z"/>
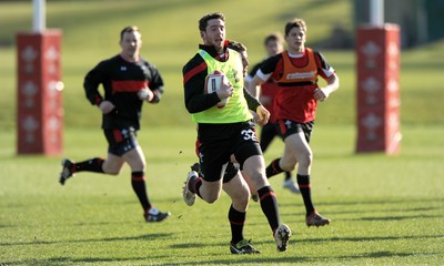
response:
<path fill-rule="evenodd" d="M 284 38 L 287 50 L 265 60 L 249 83 L 249 90 L 256 96 L 256 86 L 269 79 L 279 85 L 273 113 L 285 150 L 282 157 L 274 160 L 266 167 L 266 176 L 290 172 L 297 164 L 297 185 L 306 209 L 305 223 L 307 226 L 323 226 L 331 221 L 321 216 L 312 203 L 310 172 L 313 153 L 309 143 L 317 102 L 325 101 L 336 91 L 340 81 L 320 52 L 305 48 L 304 20 L 293 19 L 287 22 Z M 325 80 L 325 86 L 319 86 L 319 76 Z"/>

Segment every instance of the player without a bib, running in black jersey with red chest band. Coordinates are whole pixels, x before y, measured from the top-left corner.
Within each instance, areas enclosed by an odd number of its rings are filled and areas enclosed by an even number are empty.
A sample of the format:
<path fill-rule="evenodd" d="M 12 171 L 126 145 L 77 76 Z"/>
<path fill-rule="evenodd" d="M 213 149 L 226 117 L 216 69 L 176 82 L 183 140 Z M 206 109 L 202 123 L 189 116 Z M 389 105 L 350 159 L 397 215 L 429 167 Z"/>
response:
<path fill-rule="evenodd" d="M 147 194 L 145 156 L 137 141 L 143 102 L 159 103 L 163 80 L 159 70 L 139 54 L 141 33 L 130 25 L 120 32 L 120 54 L 101 61 L 84 78 L 84 91 L 91 104 L 103 113 L 102 129 L 108 141 L 108 157 L 89 158 L 74 163 L 62 161 L 59 182 L 75 173 L 87 171 L 117 175 L 124 163 L 131 167 L 131 185 L 142 207 L 147 222 L 161 222 L 170 216 L 154 207 Z M 104 94 L 99 92 L 102 84 Z"/>

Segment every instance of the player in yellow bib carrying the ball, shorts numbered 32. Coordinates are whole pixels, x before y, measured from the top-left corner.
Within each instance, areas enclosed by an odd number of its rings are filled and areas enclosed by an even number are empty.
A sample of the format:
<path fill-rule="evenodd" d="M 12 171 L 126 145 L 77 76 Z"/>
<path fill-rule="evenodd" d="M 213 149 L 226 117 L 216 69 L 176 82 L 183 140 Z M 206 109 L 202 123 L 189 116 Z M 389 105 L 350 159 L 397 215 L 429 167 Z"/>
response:
<path fill-rule="evenodd" d="M 203 16 L 199 20 L 199 31 L 204 44 L 199 45 L 195 55 L 183 66 L 182 74 L 185 108 L 199 125 L 199 161 L 202 177 L 195 174 L 188 176 L 183 187 L 183 200 L 189 206 L 193 205 L 196 195 L 208 203 L 215 202 L 223 188 L 223 173 L 231 155 L 234 155 L 260 195 L 261 208 L 269 222 L 278 249 L 285 252 L 291 229 L 280 223 L 278 201 L 265 177 L 262 151 L 250 113 L 252 106 L 244 94 L 246 90 L 243 86 L 241 57 L 228 48 L 224 14 L 216 12 Z M 204 93 L 206 75 L 216 70 L 225 73 L 229 83 L 223 83 L 213 93 Z M 218 102 L 228 98 L 230 101 L 224 108 L 215 106 Z M 252 111 L 256 112 L 259 123 L 268 122 L 270 113 L 259 102 Z M 248 190 L 244 191 L 249 197 Z M 230 221 L 244 222 L 245 213 L 239 211 L 242 209 L 232 212 L 235 215 L 229 217 Z M 243 253 L 239 249 L 250 246 L 248 241 L 238 244 L 231 243 L 230 249 L 233 253 Z"/>

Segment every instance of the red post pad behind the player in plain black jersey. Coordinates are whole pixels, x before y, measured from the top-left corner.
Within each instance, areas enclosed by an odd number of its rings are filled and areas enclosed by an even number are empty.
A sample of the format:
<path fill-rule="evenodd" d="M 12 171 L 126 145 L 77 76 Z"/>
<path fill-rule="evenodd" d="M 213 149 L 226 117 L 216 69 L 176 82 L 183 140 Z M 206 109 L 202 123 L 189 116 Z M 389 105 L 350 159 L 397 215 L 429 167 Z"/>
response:
<path fill-rule="evenodd" d="M 18 154 L 62 152 L 61 31 L 17 35 Z"/>

